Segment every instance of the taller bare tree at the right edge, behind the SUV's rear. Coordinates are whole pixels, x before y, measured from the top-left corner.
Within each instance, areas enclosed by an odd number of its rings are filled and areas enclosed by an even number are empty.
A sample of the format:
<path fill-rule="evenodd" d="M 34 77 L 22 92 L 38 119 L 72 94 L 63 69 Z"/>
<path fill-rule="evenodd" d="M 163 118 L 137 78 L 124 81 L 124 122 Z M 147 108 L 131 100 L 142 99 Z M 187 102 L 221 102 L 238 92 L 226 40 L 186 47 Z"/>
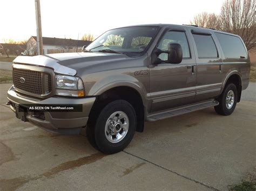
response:
<path fill-rule="evenodd" d="M 250 50 L 256 40 L 255 0 L 226 0 L 220 12 L 221 30 L 239 35 Z"/>

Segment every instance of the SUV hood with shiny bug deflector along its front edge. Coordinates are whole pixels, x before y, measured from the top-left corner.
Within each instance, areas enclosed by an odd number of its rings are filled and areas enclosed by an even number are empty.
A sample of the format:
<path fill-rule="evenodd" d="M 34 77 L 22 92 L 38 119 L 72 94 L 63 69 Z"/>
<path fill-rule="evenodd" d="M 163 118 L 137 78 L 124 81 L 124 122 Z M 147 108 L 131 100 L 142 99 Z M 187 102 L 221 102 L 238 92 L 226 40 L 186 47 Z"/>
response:
<path fill-rule="evenodd" d="M 86 66 L 100 63 L 121 61 L 127 58 L 124 54 L 103 52 L 56 53 L 39 56 L 18 56 L 14 63 L 50 67 L 56 73 L 75 76 L 77 71 Z"/>

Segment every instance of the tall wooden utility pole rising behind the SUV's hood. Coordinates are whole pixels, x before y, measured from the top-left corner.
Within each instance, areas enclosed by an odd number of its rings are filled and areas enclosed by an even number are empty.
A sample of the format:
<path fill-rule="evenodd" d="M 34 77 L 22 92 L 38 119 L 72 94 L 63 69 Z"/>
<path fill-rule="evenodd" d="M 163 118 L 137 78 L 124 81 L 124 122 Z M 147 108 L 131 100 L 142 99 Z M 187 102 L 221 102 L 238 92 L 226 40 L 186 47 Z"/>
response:
<path fill-rule="evenodd" d="M 42 55 L 43 54 L 43 37 L 42 37 L 42 25 L 41 25 L 40 0 L 35 0 L 35 6 L 36 6 L 37 55 Z"/>

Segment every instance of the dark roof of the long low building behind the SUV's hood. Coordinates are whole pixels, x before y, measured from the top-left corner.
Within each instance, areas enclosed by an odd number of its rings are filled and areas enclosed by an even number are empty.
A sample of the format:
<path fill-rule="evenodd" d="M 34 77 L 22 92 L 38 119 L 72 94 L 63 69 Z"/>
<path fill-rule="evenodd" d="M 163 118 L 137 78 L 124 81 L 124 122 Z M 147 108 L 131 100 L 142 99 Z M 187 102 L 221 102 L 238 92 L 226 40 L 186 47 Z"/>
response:
<path fill-rule="evenodd" d="M 37 40 L 36 36 L 32 36 L 33 39 Z M 91 44 L 91 41 L 87 40 L 73 40 L 67 38 L 51 38 L 43 37 L 44 45 L 55 45 L 55 46 L 84 46 Z"/>

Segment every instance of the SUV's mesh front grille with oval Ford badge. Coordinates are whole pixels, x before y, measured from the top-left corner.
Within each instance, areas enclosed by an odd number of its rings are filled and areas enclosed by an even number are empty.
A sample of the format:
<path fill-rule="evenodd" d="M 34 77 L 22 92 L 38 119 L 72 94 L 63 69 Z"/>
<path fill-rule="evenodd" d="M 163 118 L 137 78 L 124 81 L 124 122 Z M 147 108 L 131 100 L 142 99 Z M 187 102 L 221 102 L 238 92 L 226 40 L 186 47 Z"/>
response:
<path fill-rule="evenodd" d="M 19 90 L 37 95 L 51 92 L 51 76 L 48 73 L 14 68 L 12 78 Z"/>

